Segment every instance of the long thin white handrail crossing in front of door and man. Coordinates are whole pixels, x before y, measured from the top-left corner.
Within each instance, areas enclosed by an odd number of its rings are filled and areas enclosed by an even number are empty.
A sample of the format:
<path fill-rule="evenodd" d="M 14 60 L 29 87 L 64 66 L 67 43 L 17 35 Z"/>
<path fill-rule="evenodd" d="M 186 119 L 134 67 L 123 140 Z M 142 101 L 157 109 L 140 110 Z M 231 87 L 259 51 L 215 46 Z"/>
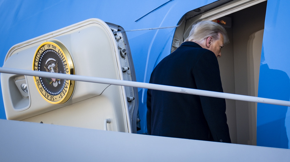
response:
<path fill-rule="evenodd" d="M 195 94 L 195 95 L 200 95 L 200 96 L 209 96 L 209 97 L 218 97 L 218 98 L 233 99 L 233 100 L 240 100 L 240 101 L 290 106 L 290 101 L 245 96 L 245 95 L 240 95 L 240 94 L 230 94 L 230 93 L 213 92 L 213 91 L 206 91 L 206 90 L 197 90 L 197 89 L 191 89 L 191 88 L 174 87 L 174 86 L 168 86 L 168 85 L 142 83 L 142 82 L 135 82 L 135 81 L 124 81 L 124 80 L 117 80 L 117 79 L 107 79 L 107 78 L 88 77 L 88 76 L 81 76 L 81 75 L 69 75 L 69 74 L 41 72 L 41 71 L 13 69 L 13 68 L 1 68 L 1 67 L 0 67 L 0 72 L 10 73 L 10 74 L 29 75 L 29 76 L 39 76 L 39 77 L 46 77 L 46 78 L 69 79 L 69 80 L 74 80 L 74 81 L 86 81 L 86 82 L 92 82 L 92 83 L 123 85 L 123 86 L 129 86 L 129 87 L 147 88 L 147 89 L 162 90 L 162 91 L 168 91 L 168 92 Z"/>

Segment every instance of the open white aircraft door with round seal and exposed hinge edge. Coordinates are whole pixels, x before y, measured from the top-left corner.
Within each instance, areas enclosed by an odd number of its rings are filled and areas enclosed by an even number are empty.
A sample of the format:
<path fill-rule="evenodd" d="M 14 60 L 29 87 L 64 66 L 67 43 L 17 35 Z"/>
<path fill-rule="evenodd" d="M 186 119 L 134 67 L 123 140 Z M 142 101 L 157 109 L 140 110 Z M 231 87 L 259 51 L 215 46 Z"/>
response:
<path fill-rule="evenodd" d="M 14 45 L 3 67 L 136 81 L 122 30 L 88 19 Z M 137 88 L 5 73 L 1 86 L 9 120 L 137 131 Z"/>

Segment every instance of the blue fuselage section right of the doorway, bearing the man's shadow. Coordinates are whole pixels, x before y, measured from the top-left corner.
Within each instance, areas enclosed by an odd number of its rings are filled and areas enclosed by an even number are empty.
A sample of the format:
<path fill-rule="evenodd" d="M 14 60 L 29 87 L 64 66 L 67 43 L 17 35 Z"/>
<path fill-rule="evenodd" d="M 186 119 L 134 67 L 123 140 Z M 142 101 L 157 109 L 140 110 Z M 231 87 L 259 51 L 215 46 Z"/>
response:
<path fill-rule="evenodd" d="M 265 18 L 258 97 L 290 98 L 290 1 L 269 0 Z M 258 103 L 257 145 L 289 148 L 290 109 Z"/>

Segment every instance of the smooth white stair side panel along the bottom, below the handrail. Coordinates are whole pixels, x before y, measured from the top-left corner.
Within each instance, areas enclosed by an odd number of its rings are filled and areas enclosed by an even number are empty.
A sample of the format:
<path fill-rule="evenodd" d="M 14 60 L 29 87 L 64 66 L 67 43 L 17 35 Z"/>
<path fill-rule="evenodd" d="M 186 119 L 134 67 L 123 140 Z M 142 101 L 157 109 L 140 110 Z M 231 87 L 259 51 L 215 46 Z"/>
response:
<path fill-rule="evenodd" d="M 289 149 L 0 120 L 0 161 L 289 161 Z"/>

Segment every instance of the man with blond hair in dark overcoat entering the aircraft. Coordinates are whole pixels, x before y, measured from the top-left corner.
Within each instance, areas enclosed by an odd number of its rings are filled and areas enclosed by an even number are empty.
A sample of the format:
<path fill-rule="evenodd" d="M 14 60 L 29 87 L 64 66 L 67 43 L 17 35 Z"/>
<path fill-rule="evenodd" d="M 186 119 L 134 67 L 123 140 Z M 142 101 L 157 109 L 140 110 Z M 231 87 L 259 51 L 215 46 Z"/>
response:
<path fill-rule="evenodd" d="M 223 92 L 217 57 L 226 42 L 226 30 L 219 24 L 193 25 L 184 43 L 155 67 L 150 83 Z M 147 91 L 151 135 L 231 143 L 225 111 L 225 99 Z"/>

